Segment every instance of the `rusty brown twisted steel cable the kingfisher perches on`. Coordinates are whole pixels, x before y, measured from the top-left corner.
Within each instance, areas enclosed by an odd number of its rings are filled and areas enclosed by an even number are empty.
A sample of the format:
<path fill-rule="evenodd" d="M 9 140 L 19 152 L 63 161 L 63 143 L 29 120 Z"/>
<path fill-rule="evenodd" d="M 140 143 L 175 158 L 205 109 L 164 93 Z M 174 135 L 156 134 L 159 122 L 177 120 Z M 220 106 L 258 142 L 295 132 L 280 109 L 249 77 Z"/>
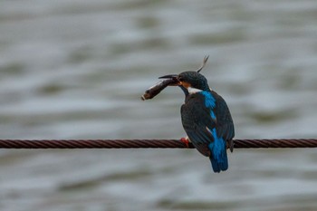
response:
<path fill-rule="evenodd" d="M 317 139 L 235 139 L 235 149 L 317 148 Z M 0 149 L 193 149 L 179 139 L 0 139 Z"/>

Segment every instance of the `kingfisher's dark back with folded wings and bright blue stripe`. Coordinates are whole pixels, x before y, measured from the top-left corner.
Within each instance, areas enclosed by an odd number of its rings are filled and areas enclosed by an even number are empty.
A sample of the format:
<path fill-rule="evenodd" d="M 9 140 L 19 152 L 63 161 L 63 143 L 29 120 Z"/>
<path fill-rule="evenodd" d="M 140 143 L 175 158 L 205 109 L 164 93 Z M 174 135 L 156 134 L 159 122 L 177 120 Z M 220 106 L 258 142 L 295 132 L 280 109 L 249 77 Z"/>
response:
<path fill-rule="evenodd" d="M 215 91 L 187 95 L 181 117 L 188 138 L 203 155 L 211 156 L 210 144 L 217 138 L 227 142 L 230 149 L 233 148 L 234 123 L 226 101 Z"/>

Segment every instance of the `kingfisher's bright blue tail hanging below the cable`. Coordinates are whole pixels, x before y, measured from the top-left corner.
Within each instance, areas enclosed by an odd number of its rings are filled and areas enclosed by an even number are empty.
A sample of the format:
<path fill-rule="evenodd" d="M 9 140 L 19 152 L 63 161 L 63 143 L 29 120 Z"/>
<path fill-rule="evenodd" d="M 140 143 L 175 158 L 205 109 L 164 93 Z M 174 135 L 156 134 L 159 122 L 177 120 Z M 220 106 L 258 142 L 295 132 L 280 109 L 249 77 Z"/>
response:
<path fill-rule="evenodd" d="M 211 167 L 214 172 L 226 171 L 228 169 L 228 158 L 226 155 L 226 142 L 224 139 L 215 139 L 214 142 L 209 144 L 211 156 Z"/>

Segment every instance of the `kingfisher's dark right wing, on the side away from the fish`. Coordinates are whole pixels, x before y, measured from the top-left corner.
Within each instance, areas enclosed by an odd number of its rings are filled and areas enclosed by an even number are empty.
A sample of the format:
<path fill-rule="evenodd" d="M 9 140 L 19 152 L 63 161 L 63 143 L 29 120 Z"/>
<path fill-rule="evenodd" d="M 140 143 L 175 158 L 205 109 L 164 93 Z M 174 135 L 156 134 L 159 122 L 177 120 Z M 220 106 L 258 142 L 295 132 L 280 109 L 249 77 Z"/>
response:
<path fill-rule="evenodd" d="M 215 91 L 212 91 L 212 94 L 216 99 L 215 112 L 217 135 L 226 141 L 232 140 L 235 137 L 235 127 L 230 110 L 226 105 L 226 101 L 220 95 L 218 95 Z"/>

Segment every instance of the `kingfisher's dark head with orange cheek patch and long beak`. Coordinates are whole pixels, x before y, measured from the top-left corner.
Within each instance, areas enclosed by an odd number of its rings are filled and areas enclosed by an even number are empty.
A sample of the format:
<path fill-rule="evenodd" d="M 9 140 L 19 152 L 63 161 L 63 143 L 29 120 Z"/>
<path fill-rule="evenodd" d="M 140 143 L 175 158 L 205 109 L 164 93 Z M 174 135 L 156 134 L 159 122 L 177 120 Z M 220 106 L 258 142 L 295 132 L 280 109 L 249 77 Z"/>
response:
<path fill-rule="evenodd" d="M 183 86 L 188 90 L 188 88 L 194 88 L 201 91 L 209 91 L 209 86 L 207 79 L 204 75 L 195 71 L 187 71 L 181 72 L 179 74 L 169 74 L 162 77 L 160 79 L 175 79 L 178 82 L 178 86 Z"/>

